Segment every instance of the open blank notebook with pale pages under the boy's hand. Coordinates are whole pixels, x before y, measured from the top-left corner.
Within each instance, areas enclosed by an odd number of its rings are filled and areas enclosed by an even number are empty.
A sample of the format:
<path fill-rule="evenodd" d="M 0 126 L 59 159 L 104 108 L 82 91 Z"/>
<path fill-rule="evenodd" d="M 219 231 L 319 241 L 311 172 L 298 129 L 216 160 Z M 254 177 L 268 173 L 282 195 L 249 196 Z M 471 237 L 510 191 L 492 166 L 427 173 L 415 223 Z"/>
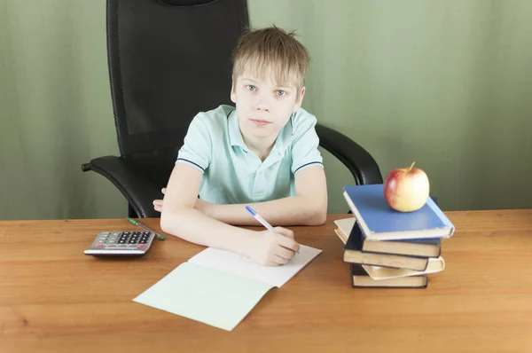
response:
<path fill-rule="evenodd" d="M 159 310 L 231 331 L 271 288 L 283 286 L 321 250 L 300 246 L 282 266 L 207 247 L 133 299 Z"/>

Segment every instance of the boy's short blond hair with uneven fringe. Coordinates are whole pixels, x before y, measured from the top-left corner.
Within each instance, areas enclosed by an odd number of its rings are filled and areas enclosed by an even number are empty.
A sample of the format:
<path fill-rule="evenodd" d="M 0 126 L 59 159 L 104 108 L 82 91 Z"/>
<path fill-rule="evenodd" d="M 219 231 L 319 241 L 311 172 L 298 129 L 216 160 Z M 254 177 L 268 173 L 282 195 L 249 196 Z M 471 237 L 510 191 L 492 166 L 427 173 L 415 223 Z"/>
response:
<path fill-rule="evenodd" d="M 293 85 L 301 90 L 309 67 L 309 52 L 294 38 L 293 32 L 278 27 L 248 31 L 239 38 L 233 51 L 233 82 L 240 75 L 266 75 L 278 85 Z"/>

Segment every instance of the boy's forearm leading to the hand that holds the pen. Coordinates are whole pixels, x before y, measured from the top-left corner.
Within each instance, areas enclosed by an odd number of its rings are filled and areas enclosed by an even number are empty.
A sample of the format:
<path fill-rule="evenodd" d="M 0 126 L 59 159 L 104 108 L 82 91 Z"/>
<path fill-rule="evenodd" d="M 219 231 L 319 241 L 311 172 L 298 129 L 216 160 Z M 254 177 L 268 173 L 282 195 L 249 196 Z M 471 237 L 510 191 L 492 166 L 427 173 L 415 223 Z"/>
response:
<path fill-rule="evenodd" d="M 246 247 L 253 236 L 249 230 L 224 224 L 193 208 L 163 213 L 160 227 L 168 234 L 192 243 L 219 247 L 242 255 L 246 255 Z"/>

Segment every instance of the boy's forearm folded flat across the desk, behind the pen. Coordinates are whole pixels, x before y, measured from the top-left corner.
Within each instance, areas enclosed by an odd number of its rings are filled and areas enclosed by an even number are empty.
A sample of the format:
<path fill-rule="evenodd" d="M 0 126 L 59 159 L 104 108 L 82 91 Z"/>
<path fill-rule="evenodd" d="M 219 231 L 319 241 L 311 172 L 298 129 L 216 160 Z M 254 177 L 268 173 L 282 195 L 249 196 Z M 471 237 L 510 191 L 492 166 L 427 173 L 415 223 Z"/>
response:
<path fill-rule="evenodd" d="M 246 210 L 254 210 L 274 226 L 318 225 L 325 223 L 326 206 L 317 207 L 301 196 L 270 200 L 251 204 L 215 205 L 209 204 L 204 212 L 208 216 L 227 224 L 261 225 Z"/>

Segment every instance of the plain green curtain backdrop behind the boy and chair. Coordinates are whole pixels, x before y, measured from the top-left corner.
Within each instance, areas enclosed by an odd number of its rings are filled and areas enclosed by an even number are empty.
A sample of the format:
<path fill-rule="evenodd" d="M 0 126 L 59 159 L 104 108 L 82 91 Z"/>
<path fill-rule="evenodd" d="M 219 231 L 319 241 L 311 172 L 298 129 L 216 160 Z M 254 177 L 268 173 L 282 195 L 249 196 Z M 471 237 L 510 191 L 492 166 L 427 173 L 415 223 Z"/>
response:
<path fill-rule="evenodd" d="M 531 208 L 532 1 L 249 0 L 295 30 L 303 106 L 383 176 L 416 161 L 444 210 Z M 83 162 L 118 154 L 105 0 L 0 0 L 0 219 L 126 216 Z M 324 151 L 329 213 L 353 182 Z"/>

